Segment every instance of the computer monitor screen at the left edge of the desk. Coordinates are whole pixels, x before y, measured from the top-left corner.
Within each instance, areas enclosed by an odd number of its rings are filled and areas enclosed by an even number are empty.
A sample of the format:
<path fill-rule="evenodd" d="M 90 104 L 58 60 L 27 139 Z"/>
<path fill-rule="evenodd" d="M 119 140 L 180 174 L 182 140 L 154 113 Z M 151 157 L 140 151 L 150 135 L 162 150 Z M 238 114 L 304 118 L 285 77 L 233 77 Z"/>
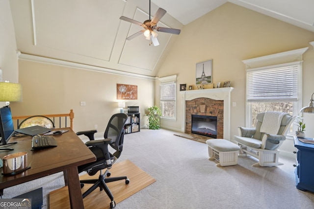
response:
<path fill-rule="evenodd" d="M 2 144 L 6 144 L 14 134 L 14 125 L 10 107 L 0 108 L 0 134 Z"/>

